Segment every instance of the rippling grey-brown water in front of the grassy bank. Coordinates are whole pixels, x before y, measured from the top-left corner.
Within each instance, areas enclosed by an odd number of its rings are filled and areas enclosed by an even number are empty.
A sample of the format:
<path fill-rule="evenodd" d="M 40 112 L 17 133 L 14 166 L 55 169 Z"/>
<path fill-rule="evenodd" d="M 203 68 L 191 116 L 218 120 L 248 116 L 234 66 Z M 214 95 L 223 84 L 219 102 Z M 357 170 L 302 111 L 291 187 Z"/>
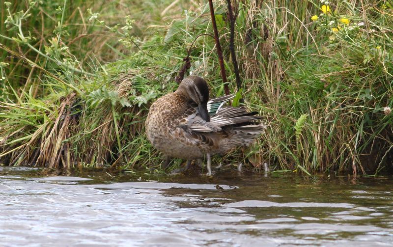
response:
<path fill-rule="evenodd" d="M 392 177 L 43 177 L 0 167 L 0 246 L 393 246 Z"/>

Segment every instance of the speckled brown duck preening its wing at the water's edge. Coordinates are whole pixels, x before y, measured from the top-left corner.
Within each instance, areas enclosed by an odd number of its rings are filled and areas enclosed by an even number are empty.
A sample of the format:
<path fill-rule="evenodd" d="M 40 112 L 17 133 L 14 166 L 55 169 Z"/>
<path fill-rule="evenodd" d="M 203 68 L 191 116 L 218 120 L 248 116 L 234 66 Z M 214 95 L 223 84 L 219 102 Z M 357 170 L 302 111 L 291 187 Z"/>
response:
<path fill-rule="evenodd" d="M 225 155 L 237 147 L 250 145 L 264 132 L 258 112 L 244 106 L 225 106 L 236 94 L 209 99 L 207 82 L 189 76 L 177 90 L 157 99 L 145 120 L 150 143 L 165 156 L 164 168 L 172 158 L 198 163 L 206 158 L 207 175 L 212 175 L 211 157 Z"/>

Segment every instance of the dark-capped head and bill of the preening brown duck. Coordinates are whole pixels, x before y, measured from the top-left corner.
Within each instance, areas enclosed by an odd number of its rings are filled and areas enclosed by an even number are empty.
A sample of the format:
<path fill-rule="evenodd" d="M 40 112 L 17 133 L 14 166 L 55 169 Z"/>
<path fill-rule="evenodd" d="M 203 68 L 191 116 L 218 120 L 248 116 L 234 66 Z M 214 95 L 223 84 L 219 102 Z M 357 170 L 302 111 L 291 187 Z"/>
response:
<path fill-rule="evenodd" d="M 209 87 L 203 78 L 198 76 L 187 77 L 180 83 L 176 92 L 197 103 L 202 119 L 206 122 L 210 121 L 206 105 L 209 101 Z"/>

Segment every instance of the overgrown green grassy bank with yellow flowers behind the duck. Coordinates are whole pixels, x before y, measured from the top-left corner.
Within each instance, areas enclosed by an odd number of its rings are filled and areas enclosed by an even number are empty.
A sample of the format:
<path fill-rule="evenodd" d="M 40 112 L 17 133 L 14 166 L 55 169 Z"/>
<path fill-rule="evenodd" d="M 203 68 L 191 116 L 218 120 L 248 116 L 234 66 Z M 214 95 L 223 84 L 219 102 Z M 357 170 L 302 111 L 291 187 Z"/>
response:
<path fill-rule="evenodd" d="M 207 1 L 187 2 L 1 2 L 11 13 L 4 25 L 1 8 L 1 163 L 159 167 L 143 131 L 148 107 L 176 88 L 196 37 L 213 33 Z M 270 128 L 225 163 L 391 169 L 393 3 L 250 0 L 237 10 L 243 97 Z M 226 1 L 215 1 L 215 14 L 233 92 Z M 190 55 L 188 73 L 223 94 L 214 40 L 198 37 Z"/>

